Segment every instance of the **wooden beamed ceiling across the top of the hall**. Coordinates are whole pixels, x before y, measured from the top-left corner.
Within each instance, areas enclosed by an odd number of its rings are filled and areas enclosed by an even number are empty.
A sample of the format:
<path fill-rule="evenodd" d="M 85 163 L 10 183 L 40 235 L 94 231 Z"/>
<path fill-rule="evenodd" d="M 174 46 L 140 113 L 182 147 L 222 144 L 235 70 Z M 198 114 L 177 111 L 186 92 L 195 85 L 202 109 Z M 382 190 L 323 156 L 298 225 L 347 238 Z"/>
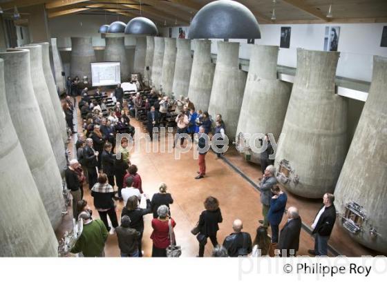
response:
<path fill-rule="evenodd" d="M 0 0 L 7 11 L 45 4 L 48 17 L 69 14 L 140 14 L 167 26 L 188 26 L 196 12 L 212 0 Z M 259 23 L 376 23 L 387 22 L 387 0 L 238 0 L 249 8 Z M 275 3 L 274 3 L 275 2 Z M 141 3 L 141 5 L 140 5 Z M 332 18 L 327 18 L 332 4 Z M 275 9 L 276 20 L 272 21 Z"/>

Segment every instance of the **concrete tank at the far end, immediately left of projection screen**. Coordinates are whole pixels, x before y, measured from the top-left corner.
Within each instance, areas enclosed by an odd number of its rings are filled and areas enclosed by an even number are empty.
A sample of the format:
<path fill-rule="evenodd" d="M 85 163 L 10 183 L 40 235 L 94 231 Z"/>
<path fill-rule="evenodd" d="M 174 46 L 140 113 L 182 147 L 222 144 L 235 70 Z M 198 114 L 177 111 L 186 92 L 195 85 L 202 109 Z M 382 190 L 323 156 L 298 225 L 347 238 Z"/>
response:
<path fill-rule="evenodd" d="M 95 62 L 91 37 L 71 37 L 70 76 L 91 81 L 91 62 Z"/>

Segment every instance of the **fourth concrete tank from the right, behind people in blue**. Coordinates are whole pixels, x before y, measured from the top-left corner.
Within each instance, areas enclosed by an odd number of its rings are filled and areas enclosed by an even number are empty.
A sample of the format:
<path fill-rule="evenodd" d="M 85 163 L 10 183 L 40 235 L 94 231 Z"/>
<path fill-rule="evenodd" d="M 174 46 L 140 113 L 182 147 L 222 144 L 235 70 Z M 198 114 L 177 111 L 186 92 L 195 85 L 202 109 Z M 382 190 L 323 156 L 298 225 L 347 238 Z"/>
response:
<path fill-rule="evenodd" d="M 235 140 L 247 74 L 239 70 L 239 43 L 218 41 L 218 57 L 208 113 L 221 114 L 229 142 Z"/>

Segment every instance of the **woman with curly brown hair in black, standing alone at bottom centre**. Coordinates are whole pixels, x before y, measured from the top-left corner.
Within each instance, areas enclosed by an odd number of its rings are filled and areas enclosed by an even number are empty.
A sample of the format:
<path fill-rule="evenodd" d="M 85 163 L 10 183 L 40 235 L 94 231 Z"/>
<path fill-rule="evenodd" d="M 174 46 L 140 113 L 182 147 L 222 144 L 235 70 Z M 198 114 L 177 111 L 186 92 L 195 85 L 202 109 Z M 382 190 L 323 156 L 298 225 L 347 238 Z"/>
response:
<path fill-rule="evenodd" d="M 204 204 L 205 211 L 202 211 L 199 217 L 199 257 L 203 257 L 205 254 L 205 245 L 207 244 L 208 237 L 214 248 L 218 245 L 218 240 L 216 239 L 216 233 L 219 230 L 218 223 L 223 222 L 218 199 L 207 197 Z"/>

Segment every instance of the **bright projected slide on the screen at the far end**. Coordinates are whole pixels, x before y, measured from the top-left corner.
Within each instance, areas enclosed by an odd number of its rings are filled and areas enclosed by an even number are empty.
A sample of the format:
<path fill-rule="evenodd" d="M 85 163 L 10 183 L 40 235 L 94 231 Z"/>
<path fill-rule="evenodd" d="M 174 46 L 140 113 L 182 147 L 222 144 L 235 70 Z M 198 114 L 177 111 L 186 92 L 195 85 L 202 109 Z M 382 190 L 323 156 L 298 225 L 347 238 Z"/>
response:
<path fill-rule="evenodd" d="M 91 63 L 93 86 L 121 84 L 120 62 Z"/>

